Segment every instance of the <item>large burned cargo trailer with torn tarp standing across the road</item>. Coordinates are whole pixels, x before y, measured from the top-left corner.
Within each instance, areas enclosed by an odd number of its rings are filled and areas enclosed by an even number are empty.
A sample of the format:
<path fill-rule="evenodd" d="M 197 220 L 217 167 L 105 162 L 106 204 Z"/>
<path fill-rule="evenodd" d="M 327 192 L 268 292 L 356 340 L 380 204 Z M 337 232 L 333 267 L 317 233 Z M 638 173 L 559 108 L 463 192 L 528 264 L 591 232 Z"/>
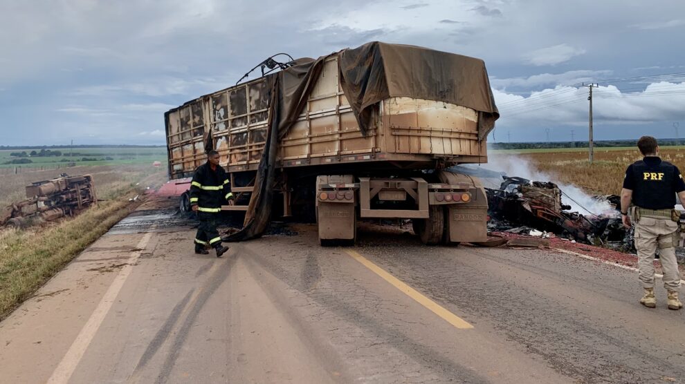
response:
<path fill-rule="evenodd" d="M 482 185 L 447 170 L 487 162 L 499 113 L 482 60 L 374 42 L 281 68 L 165 113 L 172 179 L 209 149 L 230 174 L 222 209 L 245 218 L 226 240 L 272 215 L 314 216 L 321 244 L 354 243 L 364 218 L 412 219 L 426 244 L 486 240 Z"/>

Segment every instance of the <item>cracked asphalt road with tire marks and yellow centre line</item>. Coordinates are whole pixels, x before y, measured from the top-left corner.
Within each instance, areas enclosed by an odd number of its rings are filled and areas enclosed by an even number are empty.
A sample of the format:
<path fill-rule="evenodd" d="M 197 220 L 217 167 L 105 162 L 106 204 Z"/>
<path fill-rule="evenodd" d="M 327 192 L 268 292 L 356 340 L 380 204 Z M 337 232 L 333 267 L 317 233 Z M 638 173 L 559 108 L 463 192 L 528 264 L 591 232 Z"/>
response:
<path fill-rule="evenodd" d="M 145 207 L 143 207 L 145 208 Z M 149 208 L 149 207 L 148 207 Z M 425 247 L 316 227 L 192 253 L 140 211 L 0 323 L 1 383 L 681 383 L 684 311 L 554 250 Z"/>

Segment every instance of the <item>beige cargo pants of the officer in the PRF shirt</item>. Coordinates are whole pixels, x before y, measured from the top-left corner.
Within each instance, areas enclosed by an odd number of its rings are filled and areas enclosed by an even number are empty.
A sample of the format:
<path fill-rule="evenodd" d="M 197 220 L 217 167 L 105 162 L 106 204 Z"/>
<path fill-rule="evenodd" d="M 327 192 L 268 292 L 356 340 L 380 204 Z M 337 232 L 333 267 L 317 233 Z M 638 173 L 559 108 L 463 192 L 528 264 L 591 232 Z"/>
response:
<path fill-rule="evenodd" d="M 675 246 L 680 238 L 678 223 L 670 218 L 641 217 L 635 225 L 635 248 L 642 287 L 654 287 L 654 253 L 659 248 L 659 260 L 664 269 L 664 288 L 678 291 L 680 273 L 675 258 Z"/>

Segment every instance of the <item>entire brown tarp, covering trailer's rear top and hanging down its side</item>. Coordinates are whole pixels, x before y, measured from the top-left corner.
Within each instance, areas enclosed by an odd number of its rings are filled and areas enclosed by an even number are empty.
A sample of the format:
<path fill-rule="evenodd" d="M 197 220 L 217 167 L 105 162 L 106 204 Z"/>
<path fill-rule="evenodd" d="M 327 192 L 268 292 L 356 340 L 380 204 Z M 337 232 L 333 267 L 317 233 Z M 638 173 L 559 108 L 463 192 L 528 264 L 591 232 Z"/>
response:
<path fill-rule="evenodd" d="M 343 91 L 364 134 L 371 124 L 371 107 L 388 97 L 412 97 L 473 108 L 479 115 L 481 140 L 499 117 L 485 64 L 480 59 L 379 42 L 331 55 L 338 55 Z M 302 113 L 327 57 L 298 59 L 295 66 L 269 75 L 268 133 L 254 192 L 243 229 L 223 238 L 224 241 L 257 238 L 266 231 L 271 218 L 278 143 Z"/>

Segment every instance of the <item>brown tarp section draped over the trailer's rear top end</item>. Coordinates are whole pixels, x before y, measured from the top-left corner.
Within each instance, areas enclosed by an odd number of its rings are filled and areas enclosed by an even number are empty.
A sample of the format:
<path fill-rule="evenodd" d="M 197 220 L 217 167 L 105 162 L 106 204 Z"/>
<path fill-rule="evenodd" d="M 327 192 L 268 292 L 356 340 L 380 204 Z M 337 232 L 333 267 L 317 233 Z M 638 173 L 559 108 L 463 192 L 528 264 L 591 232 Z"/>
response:
<path fill-rule="evenodd" d="M 412 97 L 472 108 L 483 140 L 500 113 L 481 59 L 378 41 L 342 50 L 340 85 L 359 128 L 372 124 L 371 107 L 388 97 Z"/>

